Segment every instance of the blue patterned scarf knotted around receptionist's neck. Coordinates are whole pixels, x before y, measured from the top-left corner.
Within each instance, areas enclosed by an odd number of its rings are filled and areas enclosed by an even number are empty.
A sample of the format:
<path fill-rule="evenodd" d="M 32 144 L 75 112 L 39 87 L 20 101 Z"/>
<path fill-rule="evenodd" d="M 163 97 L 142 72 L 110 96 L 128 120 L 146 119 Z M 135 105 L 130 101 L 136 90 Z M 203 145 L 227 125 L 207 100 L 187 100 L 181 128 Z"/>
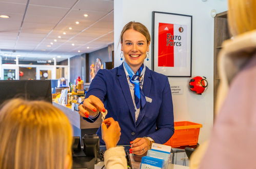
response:
<path fill-rule="evenodd" d="M 142 89 L 140 88 L 140 77 L 145 72 L 144 64 L 142 64 L 139 70 L 137 70 L 136 74 L 132 71 L 132 69 L 130 68 L 126 61 L 124 61 L 124 66 L 130 77 L 130 82 L 134 84 L 134 100 L 136 108 L 144 108 L 144 105 L 146 104 L 146 98 L 145 95 L 143 94 Z"/>

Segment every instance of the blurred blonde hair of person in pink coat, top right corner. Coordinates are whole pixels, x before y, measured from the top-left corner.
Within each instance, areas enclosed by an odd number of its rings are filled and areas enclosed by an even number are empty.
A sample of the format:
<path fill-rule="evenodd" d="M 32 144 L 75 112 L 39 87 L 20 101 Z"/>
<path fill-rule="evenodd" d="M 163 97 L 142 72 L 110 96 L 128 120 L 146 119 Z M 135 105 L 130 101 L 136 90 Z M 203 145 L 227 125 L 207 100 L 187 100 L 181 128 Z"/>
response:
<path fill-rule="evenodd" d="M 229 0 L 228 23 L 232 35 L 256 29 L 256 0 Z"/>

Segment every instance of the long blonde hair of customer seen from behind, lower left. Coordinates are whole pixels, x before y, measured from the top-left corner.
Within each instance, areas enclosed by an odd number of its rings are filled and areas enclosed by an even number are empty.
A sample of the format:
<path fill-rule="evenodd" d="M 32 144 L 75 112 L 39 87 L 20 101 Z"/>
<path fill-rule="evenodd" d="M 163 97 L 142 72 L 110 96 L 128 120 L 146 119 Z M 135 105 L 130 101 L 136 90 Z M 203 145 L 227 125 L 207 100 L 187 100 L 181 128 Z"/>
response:
<path fill-rule="evenodd" d="M 63 169 L 67 157 L 71 168 L 71 145 L 68 118 L 48 102 L 13 99 L 0 110 L 1 169 Z"/>

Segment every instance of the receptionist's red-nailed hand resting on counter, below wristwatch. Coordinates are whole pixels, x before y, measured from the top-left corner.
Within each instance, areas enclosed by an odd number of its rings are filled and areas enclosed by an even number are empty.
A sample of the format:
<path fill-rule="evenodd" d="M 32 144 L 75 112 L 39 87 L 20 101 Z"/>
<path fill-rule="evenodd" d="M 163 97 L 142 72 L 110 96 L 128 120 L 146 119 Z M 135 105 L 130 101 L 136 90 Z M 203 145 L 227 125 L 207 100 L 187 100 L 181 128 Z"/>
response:
<path fill-rule="evenodd" d="M 143 155 L 149 150 L 150 142 L 148 139 L 145 138 L 136 138 L 135 140 L 131 141 L 130 144 L 130 153 L 135 155 Z"/>

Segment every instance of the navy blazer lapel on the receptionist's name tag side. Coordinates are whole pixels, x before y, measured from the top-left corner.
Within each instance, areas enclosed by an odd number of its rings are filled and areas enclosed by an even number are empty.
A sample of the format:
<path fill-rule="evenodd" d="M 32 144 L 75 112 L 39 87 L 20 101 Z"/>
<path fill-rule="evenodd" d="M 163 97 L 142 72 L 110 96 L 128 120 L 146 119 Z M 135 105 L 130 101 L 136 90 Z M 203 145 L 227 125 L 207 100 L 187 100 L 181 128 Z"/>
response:
<path fill-rule="evenodd" d="M 145 97 L 150 97 L 150 90 L 151 90 L 151 74 L 149 69 L 146 67 L 144 81 L 143 81 L 143 88 L 142 91 Z M 141 109 L 139 117 L 137 118 L 136 125 L 139 125 L 141 120 L 143 119 L 145 113 L 147 112 L 149 102 L 146 101 L 146 104 L 143 109 Z"/>

